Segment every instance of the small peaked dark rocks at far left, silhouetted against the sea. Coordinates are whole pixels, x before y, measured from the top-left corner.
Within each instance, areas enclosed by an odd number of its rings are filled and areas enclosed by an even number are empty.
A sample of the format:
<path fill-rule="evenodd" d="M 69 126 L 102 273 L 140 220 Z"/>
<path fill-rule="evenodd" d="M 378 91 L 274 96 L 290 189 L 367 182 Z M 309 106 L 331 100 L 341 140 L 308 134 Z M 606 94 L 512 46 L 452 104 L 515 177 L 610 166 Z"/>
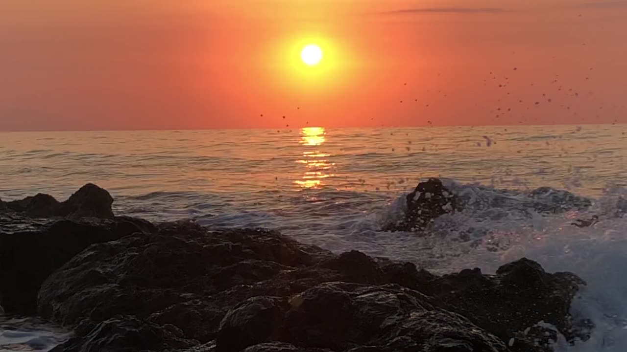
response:
<path fill-rule="evenodd" d="M 21 200 L 13 200 L 6 206 L 27 217 L 98 217 L 112 219 L 113 198 L 97 185 L 86 184 L 78 189 L 65 202 L 58 202 L 47 194 L 37 194 Z"/>

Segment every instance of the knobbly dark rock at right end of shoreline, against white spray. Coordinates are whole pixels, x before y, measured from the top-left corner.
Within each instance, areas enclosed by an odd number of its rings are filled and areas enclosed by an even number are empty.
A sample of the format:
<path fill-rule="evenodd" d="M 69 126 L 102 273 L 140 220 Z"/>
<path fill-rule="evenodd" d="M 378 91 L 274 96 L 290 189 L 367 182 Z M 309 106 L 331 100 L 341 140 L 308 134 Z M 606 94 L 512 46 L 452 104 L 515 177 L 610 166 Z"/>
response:
<path fill-rule="evenodd" d="M 424 292 L 436 297 L 443 308 L 466 316 L 502 341 L 516 339 L 517 348 L 512 347 L 512 351 L 527 351 L 525 344 L 534 344 L 533 336 L 525 339 L 522 332 L 539 321 L 556 326 L 569 341 L 576 337 L 569 309 L 584 284 L 574 274 L 549 274 L 537 262 L 523 258 L 500 267 L 496 276 L 466 269 L 438 277 Z M 549 350 L 547 339 L 542 339 L 542 350 Z"/>

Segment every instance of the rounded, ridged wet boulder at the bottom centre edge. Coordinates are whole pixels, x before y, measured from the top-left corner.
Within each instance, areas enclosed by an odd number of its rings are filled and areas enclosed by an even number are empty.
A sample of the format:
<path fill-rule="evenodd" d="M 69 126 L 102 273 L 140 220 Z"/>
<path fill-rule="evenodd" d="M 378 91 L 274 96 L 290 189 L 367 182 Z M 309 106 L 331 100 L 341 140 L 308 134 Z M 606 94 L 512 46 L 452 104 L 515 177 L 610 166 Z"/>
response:
<path fill-rule="evenodd" d="M 334 351 L 355 346 L 378 351 L 431 351 L 446 345 L 455 346 L 457 351 L 507 351 L 502 341 L 429 301 L 419 292 L 396 285 L 345 282 L 312 287 L 293 296 L 288 305 L 277 298 L 255 298 L 224 317 L 216 351 L 239 351 L 270 339 Z M 271 326 L 263 326 L 264 320 Z M 251 330 L 263 333 L 253 337 Z"/>

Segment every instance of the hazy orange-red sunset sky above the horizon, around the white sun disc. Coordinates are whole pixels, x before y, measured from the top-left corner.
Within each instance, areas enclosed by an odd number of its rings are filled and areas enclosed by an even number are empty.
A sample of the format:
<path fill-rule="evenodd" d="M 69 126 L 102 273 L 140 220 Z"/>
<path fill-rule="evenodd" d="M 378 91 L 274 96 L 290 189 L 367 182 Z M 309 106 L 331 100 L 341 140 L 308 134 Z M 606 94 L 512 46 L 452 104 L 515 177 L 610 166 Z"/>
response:
<path fill-rule="evenodd" d="M 627 1 L 5 0 L 0 130 L 626 123 L 626 19 Z"/>

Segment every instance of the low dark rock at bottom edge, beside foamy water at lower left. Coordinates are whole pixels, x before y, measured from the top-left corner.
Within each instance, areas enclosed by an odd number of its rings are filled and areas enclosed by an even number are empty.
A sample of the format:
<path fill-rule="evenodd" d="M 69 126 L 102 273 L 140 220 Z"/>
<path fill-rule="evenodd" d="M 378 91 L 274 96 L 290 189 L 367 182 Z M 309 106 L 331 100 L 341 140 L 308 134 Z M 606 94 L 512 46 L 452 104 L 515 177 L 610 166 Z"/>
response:
<path fill-rule="evenodd" d="M 157 352 L 198 344 L 198 341 L 182 338 L 181 330 L 174 326 L 159 326 L 133 316 L 115 316 L 95 326 L 85 324 L 88 328 L 77 331 L 89 331 L 87 334 L 77 334 L 51 352 Z"/>

